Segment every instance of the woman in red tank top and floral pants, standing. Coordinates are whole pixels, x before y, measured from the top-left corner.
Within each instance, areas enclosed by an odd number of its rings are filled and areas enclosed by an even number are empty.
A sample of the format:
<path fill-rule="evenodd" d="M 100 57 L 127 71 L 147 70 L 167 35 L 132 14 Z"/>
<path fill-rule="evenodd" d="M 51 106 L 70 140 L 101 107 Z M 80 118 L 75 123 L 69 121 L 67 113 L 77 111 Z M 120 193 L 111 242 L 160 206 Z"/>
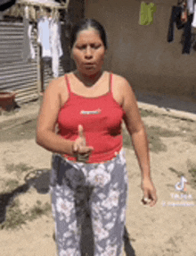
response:
<path fill-rule="evenodd" d="M 91 208 L 94 256 L 122 255 L 127 169 L 121 122 L 142 170 L 143 203 L 153 206 L 149 149 L 129 83 L 102 71 L 107 50 L 102 25 L 86 19 L 70 37 L 77 70 L 52 81 L 37 122 L 37 143 L 52 151 L 52 206 L 59 255 L 81 255 L 81 223 Z M 58 124 L 58 132 L 55 126 Z"/>

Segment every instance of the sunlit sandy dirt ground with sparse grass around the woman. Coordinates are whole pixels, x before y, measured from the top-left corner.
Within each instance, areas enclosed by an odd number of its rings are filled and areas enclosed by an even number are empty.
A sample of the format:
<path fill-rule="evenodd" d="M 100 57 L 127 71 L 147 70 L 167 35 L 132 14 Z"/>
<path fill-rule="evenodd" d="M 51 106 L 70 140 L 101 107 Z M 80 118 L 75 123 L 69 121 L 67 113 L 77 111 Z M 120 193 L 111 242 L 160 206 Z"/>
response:
<path fill-rule="evenodd" d="M 38 103 L 34 102 L 17 114 L 0 115 L 0 255 L 4 256 L 56 255 L 47 190 L 51 153 L 35 142 L 37 111 Z M 141 110 L 141 114 L 150 141 L 151 174 L 159 201 L 154 208 L 141 204 L 140 170 L 125 132 L 129 176 L 126 228 L 130 238 L 130 243 L 125 240 L 125 255 L 194 256 L 196 122 L 153 111 Z M 38 169 L 45 173 L 33 180 Z M 184 191 L 178 191 L 175 185 L 180 187 L 182 175 L 188 183 Z M 92 255 L 90 242 L 92 230 L 86 221 L 84 255 Z"/>

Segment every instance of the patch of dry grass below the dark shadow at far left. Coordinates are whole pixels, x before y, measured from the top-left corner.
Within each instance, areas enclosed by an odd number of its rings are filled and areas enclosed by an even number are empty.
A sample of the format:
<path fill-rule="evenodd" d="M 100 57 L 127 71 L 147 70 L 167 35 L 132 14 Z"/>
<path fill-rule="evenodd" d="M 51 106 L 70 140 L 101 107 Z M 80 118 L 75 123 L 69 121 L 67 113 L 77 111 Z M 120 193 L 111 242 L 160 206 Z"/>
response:
<path fill-rule="evenodd" d="M 29 209 L 28 212 L 22 213 L 19 199 L 14 200 L 7 209 L 6 219 L 4 224 L 0 225 L 0 229 L 19 229 L 22 225 L 26 225 L 28 221 L 47 215 L 51 211 L 51 205 L 48 202 L 42 205 L 41 201 L 37 201 L 37 204 Z"/>

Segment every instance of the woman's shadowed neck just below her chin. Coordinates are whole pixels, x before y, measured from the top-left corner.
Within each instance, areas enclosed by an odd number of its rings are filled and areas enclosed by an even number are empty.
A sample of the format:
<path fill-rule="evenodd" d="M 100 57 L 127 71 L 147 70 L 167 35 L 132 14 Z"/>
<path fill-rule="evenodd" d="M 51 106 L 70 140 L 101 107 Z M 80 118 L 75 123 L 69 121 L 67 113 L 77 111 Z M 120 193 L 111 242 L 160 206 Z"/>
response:
<path fill-rule="evenodd" d="M 79 71 L 76 71 L 74 74 L 77 76 L 79 81 L 84 83 L 86 87 L 93 88 L 94 84 L 101 78 L 102 71 L 92 75 L 86 75 L 84 73 L 80 73 Z"/>

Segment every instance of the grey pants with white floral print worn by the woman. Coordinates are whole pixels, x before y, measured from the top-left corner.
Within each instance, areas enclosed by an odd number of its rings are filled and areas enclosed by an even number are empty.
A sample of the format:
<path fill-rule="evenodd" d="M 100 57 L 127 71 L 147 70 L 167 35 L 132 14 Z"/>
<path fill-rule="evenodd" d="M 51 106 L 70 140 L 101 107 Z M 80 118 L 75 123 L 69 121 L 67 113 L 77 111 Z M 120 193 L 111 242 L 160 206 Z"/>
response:
<path fill-rule="evenodd" d="M 123 150 L 103 164 L 53 155 L 53 218 L 59 256 L 80 256 L 81 226 L 91 209 L 94 256 L 121 256 L 126 219 L 127 166 Z"/>

